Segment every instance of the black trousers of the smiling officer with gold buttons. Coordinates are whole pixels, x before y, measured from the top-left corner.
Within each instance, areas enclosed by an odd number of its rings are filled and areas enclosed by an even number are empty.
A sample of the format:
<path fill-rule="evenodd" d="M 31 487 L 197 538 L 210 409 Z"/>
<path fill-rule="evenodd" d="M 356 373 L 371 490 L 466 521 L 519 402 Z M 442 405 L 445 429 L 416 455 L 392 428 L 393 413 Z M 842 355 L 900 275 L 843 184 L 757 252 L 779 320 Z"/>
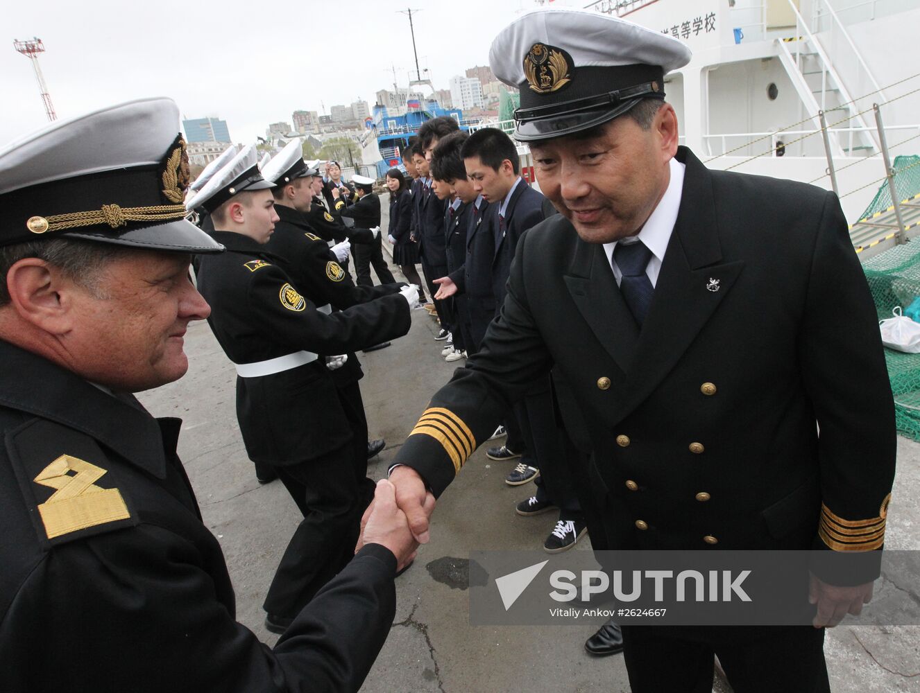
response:
<path fill-rule="evenodd" d="M 752 627 L 753 629 L 753 627 Z M 811 626 L 740 629 L 623 626 L 632 693 L 710 693 L 713 654 L 735 693 L 830 693 L 824 630 Z M 730 634 L 737 632 L 738 637 Z"/>

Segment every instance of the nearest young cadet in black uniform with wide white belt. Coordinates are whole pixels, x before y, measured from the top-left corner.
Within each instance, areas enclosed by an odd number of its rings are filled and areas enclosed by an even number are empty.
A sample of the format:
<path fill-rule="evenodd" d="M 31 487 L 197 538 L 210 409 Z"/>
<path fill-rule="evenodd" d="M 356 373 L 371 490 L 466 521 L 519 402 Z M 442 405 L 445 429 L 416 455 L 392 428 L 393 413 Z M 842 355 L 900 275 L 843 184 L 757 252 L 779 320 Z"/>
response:
<path fill-rule="evenodd" d="M 367 502 L 352 423 L 323 356 L 347 354 L 405 335 L 418 292 L 404 287 L 346 311 L 318 310 L 266 250 L 279 221 L 251 145 L 188 204 L 213 216 L 227 252 L 198 271 L 208 318 L 236 364 L 236 414 L 249 458 L 275 468 L 304 515 L 265 598 L 266 628 L 283 632 L 349 562 Z M 344 270 L 328 260 L 330 278 Z"/>

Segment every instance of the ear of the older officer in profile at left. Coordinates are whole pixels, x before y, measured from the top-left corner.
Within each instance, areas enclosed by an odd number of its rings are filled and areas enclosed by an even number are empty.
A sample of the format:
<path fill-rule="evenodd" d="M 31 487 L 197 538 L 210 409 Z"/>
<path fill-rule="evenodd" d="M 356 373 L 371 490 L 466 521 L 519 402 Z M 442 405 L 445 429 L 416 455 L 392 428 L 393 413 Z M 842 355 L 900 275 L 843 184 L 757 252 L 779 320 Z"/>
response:
<path fill-rule="evenodd" d="M 19 317 L 52 335 L 73 328 L 73 297 L 79 290 L 58 267 L 38 257 L 24 257 L 6 273 L 10 304 Z"/>

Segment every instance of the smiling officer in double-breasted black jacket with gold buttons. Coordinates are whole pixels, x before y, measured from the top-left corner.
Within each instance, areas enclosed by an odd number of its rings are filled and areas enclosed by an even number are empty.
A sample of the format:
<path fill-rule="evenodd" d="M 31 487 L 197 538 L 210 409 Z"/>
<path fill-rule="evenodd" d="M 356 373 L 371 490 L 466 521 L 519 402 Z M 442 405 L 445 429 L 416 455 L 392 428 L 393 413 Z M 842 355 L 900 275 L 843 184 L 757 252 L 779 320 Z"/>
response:
<path fill-rule="evenodd" d="M 714 653 L 738 693 L 827 691 L 825 627 L 871 596 L 894 475 L 876 311 L 834 193 L 710 171 L 678 145 L 664 75 L 689 60 L 681 41 L 593 12 L 500 32 L 492 72 L 520 89 L 515 137 L 560 213 L 519 239 L 483 350 L 434 394 L 391 480 L 427 540 L 426 486 L 443 493 L 555 366 L 590 435 L 590 474 L 575 476 L 597 480 L 577 489 L 602 508 L 585 508 L 604 519 L 595 549 L 876 565 L 841 585 L 813 563 L 810 626 L 624 626 L 634 693 L 709 690 Z"/>

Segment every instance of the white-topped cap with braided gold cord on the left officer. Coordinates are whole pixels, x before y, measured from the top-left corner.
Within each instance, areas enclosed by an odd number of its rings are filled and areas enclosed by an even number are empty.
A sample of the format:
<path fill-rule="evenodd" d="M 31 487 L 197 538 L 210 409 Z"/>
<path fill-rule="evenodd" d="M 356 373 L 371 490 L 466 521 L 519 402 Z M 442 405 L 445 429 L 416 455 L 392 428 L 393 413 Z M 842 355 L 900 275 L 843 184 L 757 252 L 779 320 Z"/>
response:
<path fill-rule="evenodd" d="M 217 252 L 185 220 L 189 158 L 169 98 L 144 98 L 50 125 L 0 149 L 0 244 L 79 238 Z"/>

